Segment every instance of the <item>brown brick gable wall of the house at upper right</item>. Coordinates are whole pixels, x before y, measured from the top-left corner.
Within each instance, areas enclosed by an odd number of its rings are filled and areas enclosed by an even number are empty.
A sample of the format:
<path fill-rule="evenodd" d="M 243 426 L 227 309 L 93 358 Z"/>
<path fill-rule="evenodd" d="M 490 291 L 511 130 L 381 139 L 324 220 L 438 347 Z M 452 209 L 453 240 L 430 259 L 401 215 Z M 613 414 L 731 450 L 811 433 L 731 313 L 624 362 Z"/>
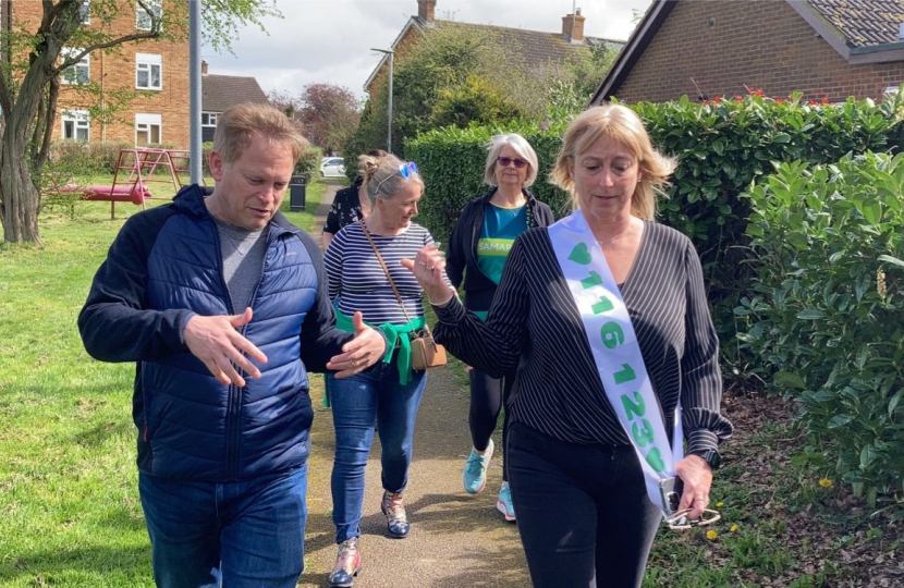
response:
<path fill-rule="evenodd" d="M 904 82 L 904 62 L 852 65 L 786 2 L 683 1 L 657 32 L 614 95 L 664 102 L 682 95 L 766 96 L 805 100 L 848 96 L 881 100 Z"/>

